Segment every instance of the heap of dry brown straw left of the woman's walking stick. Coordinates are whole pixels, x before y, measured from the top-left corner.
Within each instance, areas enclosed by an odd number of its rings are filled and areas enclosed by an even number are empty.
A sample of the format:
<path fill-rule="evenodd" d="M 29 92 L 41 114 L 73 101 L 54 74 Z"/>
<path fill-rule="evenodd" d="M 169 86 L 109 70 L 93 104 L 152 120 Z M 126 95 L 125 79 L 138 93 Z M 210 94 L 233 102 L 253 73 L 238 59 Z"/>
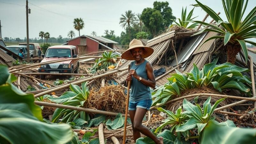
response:
<path fill-rule="evenodd" d="M 120 85 L 106 85 L 100 87 L 100 89 L 93 88 L 90 91 L 87 108 L 124 113 L 125 101 L 124 87 Z"/>

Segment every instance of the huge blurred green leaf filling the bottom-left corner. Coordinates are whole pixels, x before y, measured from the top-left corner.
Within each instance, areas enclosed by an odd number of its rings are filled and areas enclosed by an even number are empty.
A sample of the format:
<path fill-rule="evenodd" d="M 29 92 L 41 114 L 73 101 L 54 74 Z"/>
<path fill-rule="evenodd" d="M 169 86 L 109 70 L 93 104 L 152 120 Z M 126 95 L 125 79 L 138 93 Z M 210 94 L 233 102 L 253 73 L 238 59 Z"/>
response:
<path fill-rule="evenodd" d="M 68 124 L 47 124 L 29 118 L 0 118 L 0 127 L 2 139 L 13 144 L 61 144 L 70 141 L 73 137 L 72 129 Z"/>

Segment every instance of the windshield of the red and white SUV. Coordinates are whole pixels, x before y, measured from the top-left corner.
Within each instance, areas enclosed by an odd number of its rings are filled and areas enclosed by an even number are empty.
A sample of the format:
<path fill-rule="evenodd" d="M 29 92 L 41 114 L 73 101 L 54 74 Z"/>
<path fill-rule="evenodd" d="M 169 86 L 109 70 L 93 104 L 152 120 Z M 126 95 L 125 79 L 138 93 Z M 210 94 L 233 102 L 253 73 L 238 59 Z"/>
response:
<path fill-rule="evenodd" d="M 46 58 L 49 57 L 68 57 L 71 58 L 70 49 L 48 49 L 46 54 Z"/>

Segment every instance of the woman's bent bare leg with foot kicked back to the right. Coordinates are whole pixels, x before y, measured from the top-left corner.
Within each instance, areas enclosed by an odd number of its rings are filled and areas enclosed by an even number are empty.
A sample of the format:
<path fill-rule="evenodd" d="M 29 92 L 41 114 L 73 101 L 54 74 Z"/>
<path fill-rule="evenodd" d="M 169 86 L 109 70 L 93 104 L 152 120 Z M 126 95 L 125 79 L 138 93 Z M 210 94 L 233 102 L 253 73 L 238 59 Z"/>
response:
<path fill-rule="evenodd" d="M 147 109 L 136 108 L 135 116 L 133 117 L 133 128 L 150 139 L 154 140 L 156 144 L 163 144 L 163 138 L 157 138 L 146 126 L 142 125 L 142 120 L 147 112 Z M 131 117 L 131 113 L 130 113 Z M 132 117 L 131 117 L 132 120 Z M 133 134 L 134 135 L 134 134 Z M 135 137 L 134 137 L 135 140 Z M 136 139 L 137 140 L 137 139 Z M 136 142 L 135 140 L 135 142 Z"/>

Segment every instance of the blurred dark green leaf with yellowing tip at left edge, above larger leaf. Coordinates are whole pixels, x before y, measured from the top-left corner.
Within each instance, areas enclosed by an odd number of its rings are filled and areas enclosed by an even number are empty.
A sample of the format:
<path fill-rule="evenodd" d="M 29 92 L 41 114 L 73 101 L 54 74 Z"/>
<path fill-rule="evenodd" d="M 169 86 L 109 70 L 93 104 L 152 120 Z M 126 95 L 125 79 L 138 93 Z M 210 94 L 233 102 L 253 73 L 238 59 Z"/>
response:
<path fill-rule="evenodd" d="M 38 120 L 43 120 L 41 108 L 34 104 L 33 94 L 26 94 L 12 84 L 1 85 L 0 92 L 0 104 L 25 103 Z"/>

